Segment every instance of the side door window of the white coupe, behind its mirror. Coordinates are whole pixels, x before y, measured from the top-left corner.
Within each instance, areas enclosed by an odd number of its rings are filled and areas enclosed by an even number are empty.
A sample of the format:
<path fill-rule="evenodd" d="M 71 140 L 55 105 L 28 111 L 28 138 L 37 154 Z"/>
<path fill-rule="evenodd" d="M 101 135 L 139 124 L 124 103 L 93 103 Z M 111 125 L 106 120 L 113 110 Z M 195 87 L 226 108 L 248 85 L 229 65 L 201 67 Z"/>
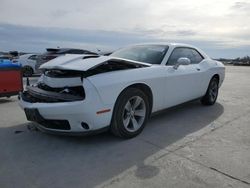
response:
<path fill-rule="evenodd" d="M 189 58 L 191 64 L 198 64 L 203 60 L 203 57 L 195 49 L 178 47 L 173 50 L 168 59 L 167 65 L 176 64 L 177 60 L 181 57 Z"/>

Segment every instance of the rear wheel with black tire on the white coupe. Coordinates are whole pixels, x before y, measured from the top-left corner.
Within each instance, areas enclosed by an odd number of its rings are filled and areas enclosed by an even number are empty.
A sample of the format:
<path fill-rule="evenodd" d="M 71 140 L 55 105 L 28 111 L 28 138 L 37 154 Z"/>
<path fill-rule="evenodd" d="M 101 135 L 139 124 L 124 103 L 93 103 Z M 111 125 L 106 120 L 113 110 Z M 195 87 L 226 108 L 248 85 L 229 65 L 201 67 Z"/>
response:
<path fill-rule="evenodd" d="M 213 77 L 208 85 L 206 94 L 202 97 L 201 103 L 203 105 L 213 105 L 218 97 L 219 93 L 219 80 Z"/>

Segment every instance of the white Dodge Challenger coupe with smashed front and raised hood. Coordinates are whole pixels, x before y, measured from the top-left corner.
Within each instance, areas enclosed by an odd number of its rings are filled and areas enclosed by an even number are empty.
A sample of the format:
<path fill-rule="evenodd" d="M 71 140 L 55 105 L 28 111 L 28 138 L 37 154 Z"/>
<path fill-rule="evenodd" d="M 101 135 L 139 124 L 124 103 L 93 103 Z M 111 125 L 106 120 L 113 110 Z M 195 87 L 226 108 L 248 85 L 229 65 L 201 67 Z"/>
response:
<path fill-rule="evenodd" d="M 141 44 L 110 56 L 64 55 L 20 94 L 37 128 L 59 134 L 110 129 L 132 138 L 153 112 L 193 99 L 213 105 L 225 67 L 186 44 Z"/>

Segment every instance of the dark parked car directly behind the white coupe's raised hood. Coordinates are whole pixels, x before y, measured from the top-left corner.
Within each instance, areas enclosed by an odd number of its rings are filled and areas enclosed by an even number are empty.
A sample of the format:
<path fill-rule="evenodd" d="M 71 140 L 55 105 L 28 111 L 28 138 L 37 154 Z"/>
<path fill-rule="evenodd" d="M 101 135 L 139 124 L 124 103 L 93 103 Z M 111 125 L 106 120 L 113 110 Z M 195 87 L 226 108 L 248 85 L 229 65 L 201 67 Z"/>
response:
<path fill-rule="evenodd" d="M 55 59 L 56 57 L 58 56 L 62 56 L 62 55 L 65 55 L 65 54 L 92 54 L 92 55 L 97 55 L 97 53 L 94 53 L 94 52 L 91 52 L 91 51 L 88 51 L 88 50 L 82 50 L 82 49 L 74 49 L 74 48 L 47 48 L 46 49 L 47 51 L 38 56 L 38 59 L 37 59 L 37 64 L 36 64 L 36 67 L 35 67 L 35 70 L 37 72 L 40 72 L 39 71 L 39 67 L 52 60 L 52 59 Z"/>

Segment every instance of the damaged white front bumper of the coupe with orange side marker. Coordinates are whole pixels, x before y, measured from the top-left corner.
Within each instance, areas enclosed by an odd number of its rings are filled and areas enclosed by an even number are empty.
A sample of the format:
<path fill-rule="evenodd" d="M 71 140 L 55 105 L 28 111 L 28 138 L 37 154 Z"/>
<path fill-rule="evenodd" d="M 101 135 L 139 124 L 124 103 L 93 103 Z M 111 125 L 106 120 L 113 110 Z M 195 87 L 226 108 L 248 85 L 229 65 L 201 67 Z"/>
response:
<path fill-rule="evenodd" d="M 27 102 L 22 94 L 20 96 L 19 105 L 27 119 L 38 123 L 38 128 L 47 132 L 87 133 L 105 128 L 111 121 L 112 111 L 97 113 L 107 106 L 103 106 L 94 95 L 90 100 L 53 103 Z"/>

